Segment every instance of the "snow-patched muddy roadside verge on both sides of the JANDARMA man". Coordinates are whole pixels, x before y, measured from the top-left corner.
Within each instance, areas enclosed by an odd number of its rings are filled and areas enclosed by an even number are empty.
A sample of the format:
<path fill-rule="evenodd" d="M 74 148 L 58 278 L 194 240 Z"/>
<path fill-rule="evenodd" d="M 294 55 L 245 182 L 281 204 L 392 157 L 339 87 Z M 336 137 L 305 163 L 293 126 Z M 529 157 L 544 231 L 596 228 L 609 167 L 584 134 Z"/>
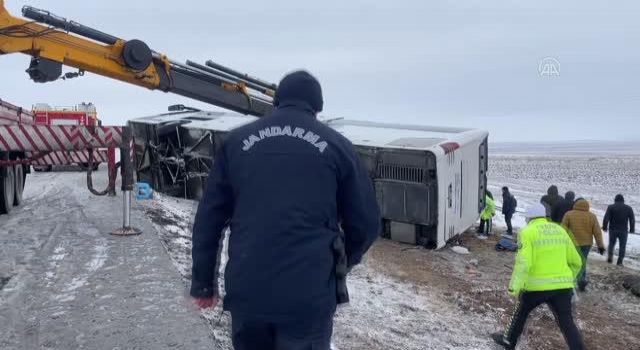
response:
<path fill-rule="evenodd" d="M 145 205 L 160 240 L 188 283 L 191 201 L 161 196 Z M 499 229 L 498 229 L 499 230 Z M 339 308 L 334 348 L 367 350 L 499 349 L 489 334 L 502 331 L 515 299 L 507 293 L 514 253 L 497 252 L 497 238 L 465 234 L 468 255 L 378 240 L 349 276 L 350 305 Z M 591 284 L 577 301 L 576 320 L 588 349 L 640 349 L 640 298 L 623 277 L 640 275 L 597 254 L 589 260 Z M 222 284 L 222 281 L 221 281 Z M 229 349 L 229 315 L 205 312 L 220 349 Z M 519 349 L 564 349 L 546 307 L 534 312 Z"/>

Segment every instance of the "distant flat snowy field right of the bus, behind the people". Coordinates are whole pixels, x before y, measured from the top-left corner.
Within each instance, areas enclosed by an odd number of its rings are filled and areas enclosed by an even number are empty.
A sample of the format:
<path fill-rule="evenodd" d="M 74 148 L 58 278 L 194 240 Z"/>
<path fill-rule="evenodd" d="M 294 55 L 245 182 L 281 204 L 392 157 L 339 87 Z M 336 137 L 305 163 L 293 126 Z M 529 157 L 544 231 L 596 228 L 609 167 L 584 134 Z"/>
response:
<path fill-rule="evenodd" d="M 502 204 L 502 186 L 508 186 L 518 200 L 514 227 L 524 226 L 523 212 L 539 202 L 550 185 L 558 186 L 561 194 L 574 191 L 576 198 L 587 199 L 600 223 L 607 206 L 613 204 L 618 193 L 625 196 L 626 203 L 640 218 L 640 154 L 628 154 L 629 150 L 624 155 L 587 155 L 579 150 L 572 147 L 571 152 L 575 154 L 563 150 L 546 153 L 549 152 L 546 148 L 523 151 L 510 146 L 495 151 L 501 153 L 490 154 L 489 190 L 494 194 L 497 205 Z M 505 226 L 502 215 L 496 216 L 495 224 Z M 604 241 L 605 244 L 609 242 L 606 232 Z M 625 263 L 629 267 L 640 268 L 640 235 L 629 235 Z"/>

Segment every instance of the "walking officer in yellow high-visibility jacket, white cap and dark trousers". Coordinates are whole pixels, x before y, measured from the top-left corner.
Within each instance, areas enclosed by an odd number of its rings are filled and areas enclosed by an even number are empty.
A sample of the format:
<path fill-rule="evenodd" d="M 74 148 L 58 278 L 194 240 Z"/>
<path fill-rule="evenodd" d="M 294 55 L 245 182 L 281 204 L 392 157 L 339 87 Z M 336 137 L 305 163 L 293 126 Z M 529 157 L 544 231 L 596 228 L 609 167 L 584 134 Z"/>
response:
<path fill-rule="evenodd" d="M 584 349 L 582 335 L 573 321 L 571 297 L 582 258 L 562 226 L 546 218 L 542 204 L 527 210 L 527 226 L 520 231 L 518 253 L 509 292 L 518 298 L 511 323 L 493 340 L 515 349 L 531 311 L 547 304 L 553 311 L 570 350 Z"/>

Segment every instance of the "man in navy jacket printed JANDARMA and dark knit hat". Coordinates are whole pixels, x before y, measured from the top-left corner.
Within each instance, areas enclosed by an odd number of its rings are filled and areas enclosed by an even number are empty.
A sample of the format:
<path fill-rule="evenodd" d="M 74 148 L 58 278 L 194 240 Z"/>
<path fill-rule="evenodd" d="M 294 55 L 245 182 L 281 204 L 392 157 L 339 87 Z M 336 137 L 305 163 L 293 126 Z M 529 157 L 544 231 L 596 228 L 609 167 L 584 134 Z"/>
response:
<path fill-rule="evenodd" d="M 215 157 L 193 225 L 191 295 L 218 303 L 228 226 L 224 309 L 237 350 L 328 350 L 346 273 L 378 237 L 371 180 L 353 145 L 316 119 L 322 105 L 318 81 L 291 73 L 273 113 L 233 130 Z"/>

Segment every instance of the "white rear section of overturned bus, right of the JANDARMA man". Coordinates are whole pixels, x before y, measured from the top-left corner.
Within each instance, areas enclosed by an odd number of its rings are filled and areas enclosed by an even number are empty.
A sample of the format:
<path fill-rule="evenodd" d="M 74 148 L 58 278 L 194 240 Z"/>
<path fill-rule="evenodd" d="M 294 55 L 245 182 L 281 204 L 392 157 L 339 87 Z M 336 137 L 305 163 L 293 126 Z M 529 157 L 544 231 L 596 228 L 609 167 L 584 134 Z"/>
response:
<path fill-rule="evenodd" d="M 393 240 L 442 248 L 484 206 L 486 131 L 335 120 L 356 146 L 376 187 Z"/>

